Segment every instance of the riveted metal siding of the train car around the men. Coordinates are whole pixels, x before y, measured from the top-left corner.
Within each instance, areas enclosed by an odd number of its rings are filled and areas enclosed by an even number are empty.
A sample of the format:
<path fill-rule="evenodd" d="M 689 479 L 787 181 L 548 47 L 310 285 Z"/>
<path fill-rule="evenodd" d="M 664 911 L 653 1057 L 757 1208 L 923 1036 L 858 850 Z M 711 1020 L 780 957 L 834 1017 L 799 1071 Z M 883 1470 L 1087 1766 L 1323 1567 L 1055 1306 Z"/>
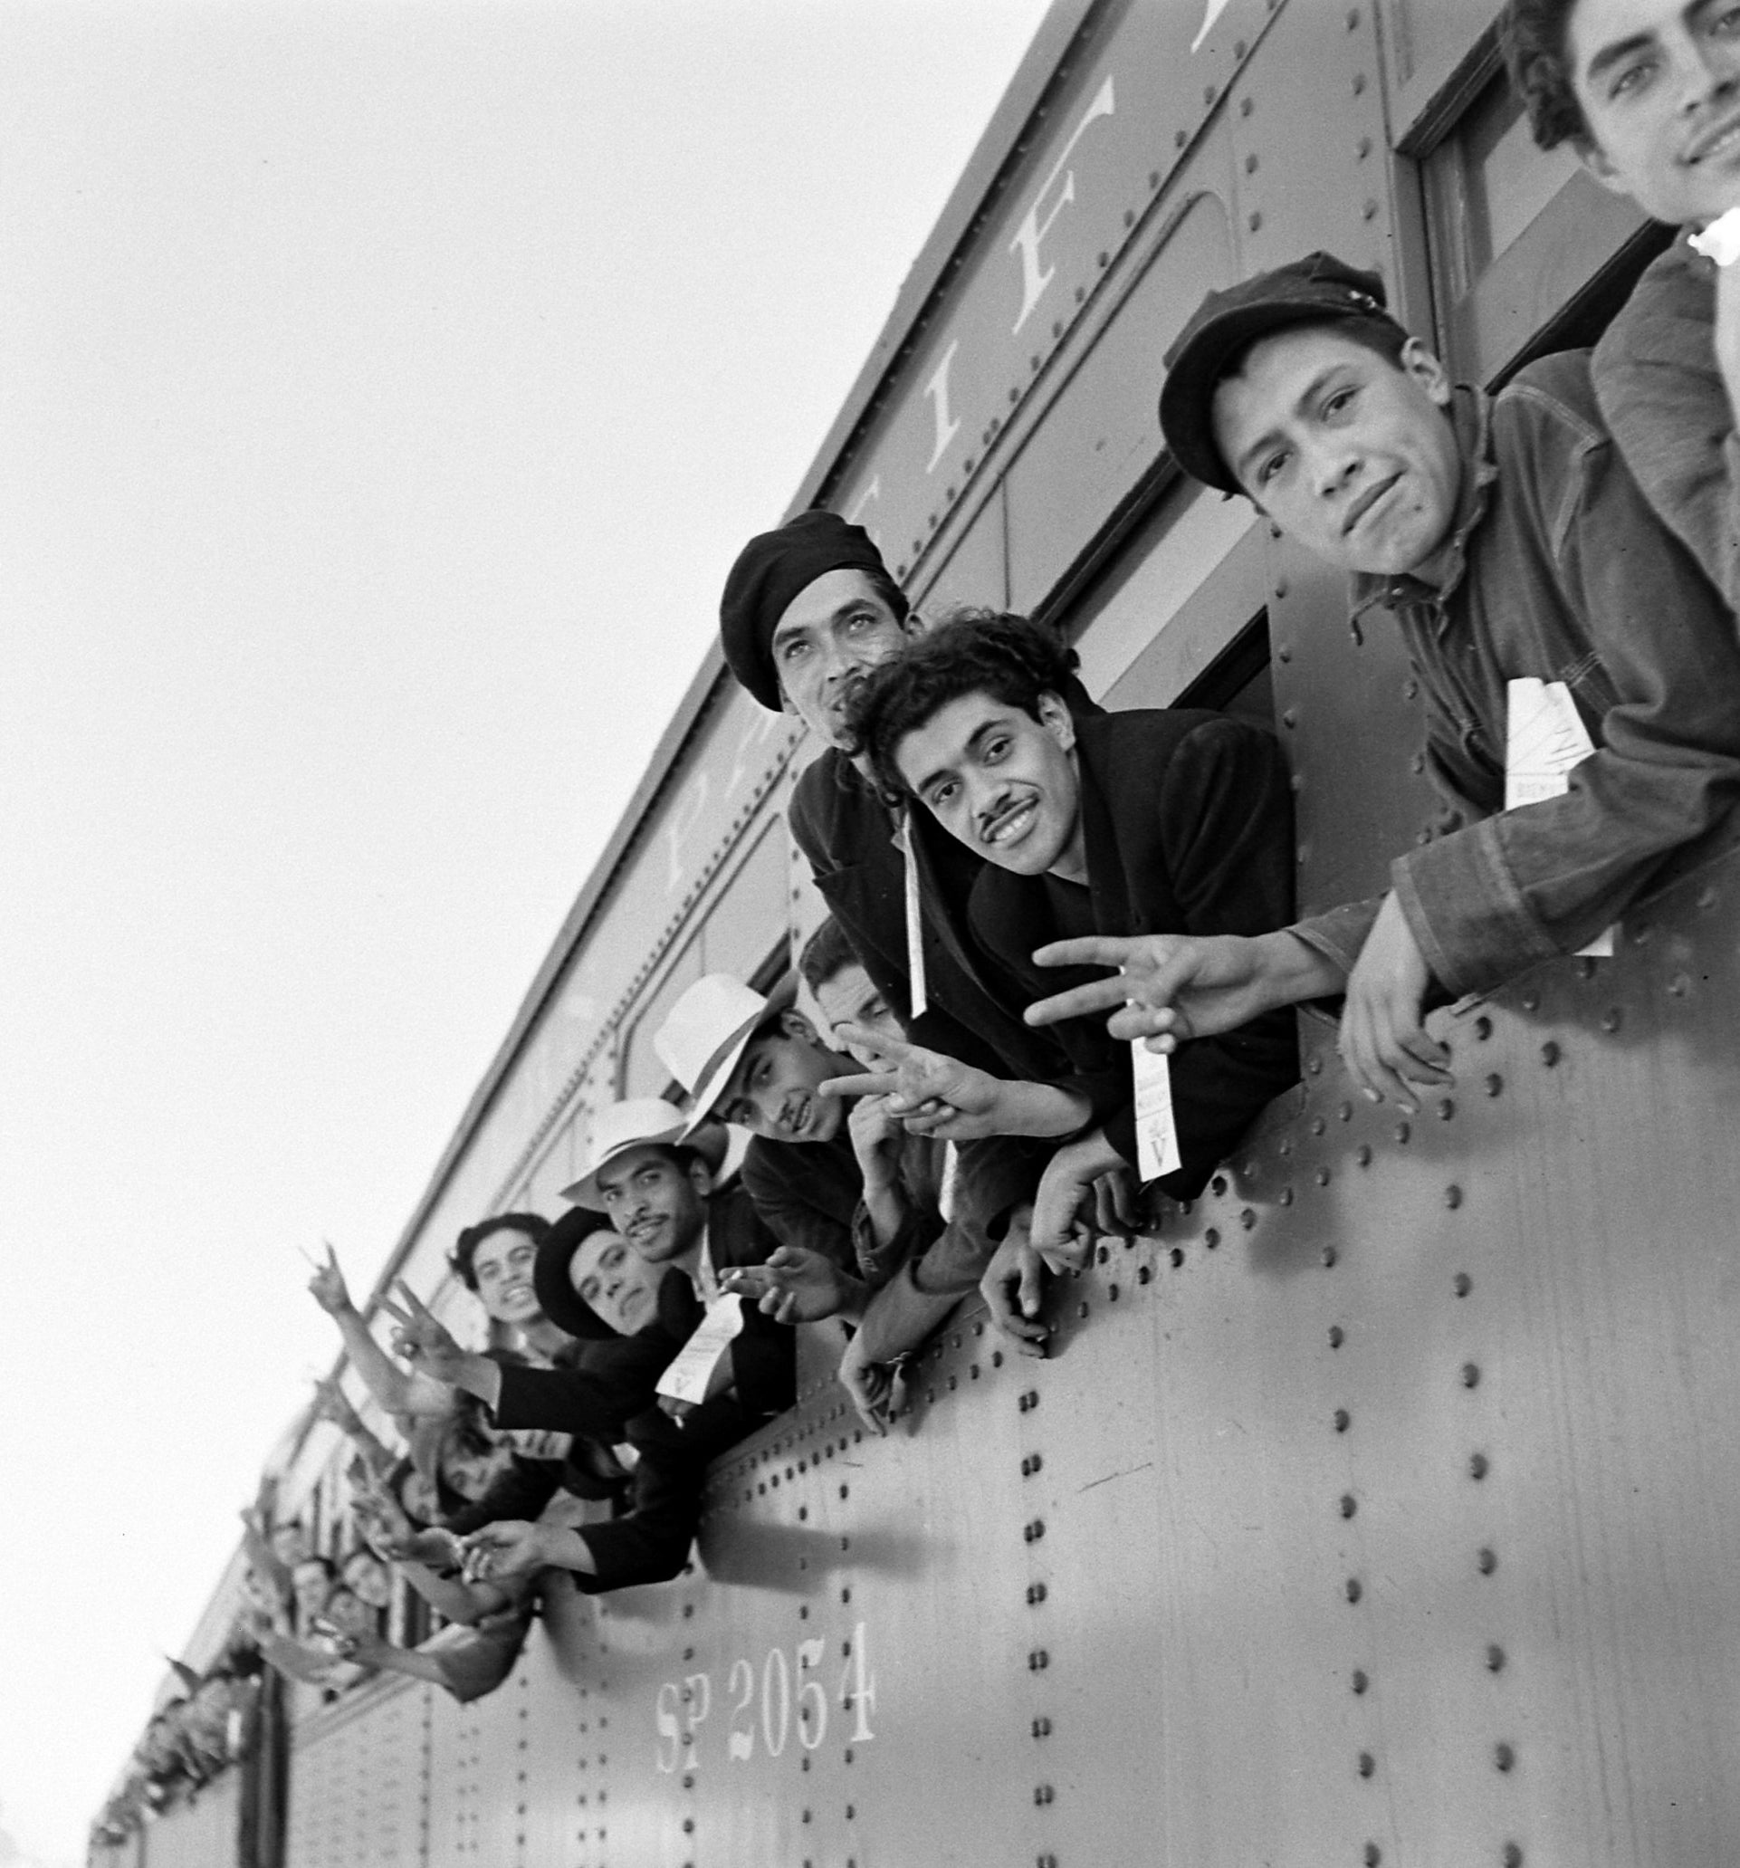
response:
<path fill-rule="evenodd" d="M 1527 146 L 1494 13 L 1064 0 L 795 501 L 920 598 L 1064 620 L 1115 704 L 1271 706 L 1307 908 L 1436 831 L 1413 680 L 1176 480 L 1159 353 L 1312 247 L 1380 265 L 1460 375 L 1587 340 L 1660 235 Z M 670 998 L 810 925 L 779 822 L 805 757 L 711 659 L 394 1276 L 554 1212 L 590 1111 L 663 1087 Z M 1303 1014 L 1301 1089 L 1053 1289 L 1049 1362 L 965 1306 L 877 1442 L 812 1343 L 691 1575 L 558 1590 L 472 1707 L 381 1683 L 308 1717 L 286 1862 L 1740 1861 L 1736 928 L 1727 837 L 1613 960 L 1445 1014 L 1456 1085 L 1413 1119 Z M 226 1861 L 220 1829 L 196 1804 L 142 1859 Z"/>

